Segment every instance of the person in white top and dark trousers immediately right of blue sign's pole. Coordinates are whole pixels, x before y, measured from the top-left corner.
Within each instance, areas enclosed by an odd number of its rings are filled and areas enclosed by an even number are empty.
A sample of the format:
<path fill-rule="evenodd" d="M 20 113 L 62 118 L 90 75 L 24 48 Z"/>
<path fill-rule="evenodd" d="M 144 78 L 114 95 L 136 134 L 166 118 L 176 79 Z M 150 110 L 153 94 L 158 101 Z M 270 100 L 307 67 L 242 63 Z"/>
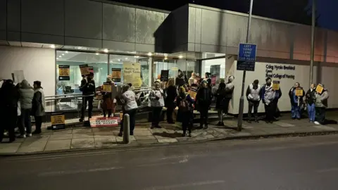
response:
<path fill-rule="evenodd" d="M 254 80 L 252 84 L 249 84 L 249 87 L 246 89 L 246 99 L 248 100 L 248 122 L 251 122 L 251 112 L 253 109 L 253 115 L 255 117 L 255 122 L 258 123 L 258 106 L 261 101 L 261 85 L 258 84 L 258 80 Z"/>

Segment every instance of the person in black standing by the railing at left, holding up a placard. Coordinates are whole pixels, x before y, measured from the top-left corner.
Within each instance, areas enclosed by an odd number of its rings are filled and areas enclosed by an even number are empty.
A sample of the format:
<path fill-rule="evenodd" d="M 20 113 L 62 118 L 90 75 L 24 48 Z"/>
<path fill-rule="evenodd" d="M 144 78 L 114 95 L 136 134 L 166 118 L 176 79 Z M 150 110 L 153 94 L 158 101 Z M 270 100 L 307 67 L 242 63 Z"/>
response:
<path fill-rule="evenodd" d="M 95 82 L 93 80 L 94 73 L 90 72 L 90 74 L 81 80 L 80 91 L 82 91 L 82 109 L 81 109 L 81 118 L 80 122 L 84 120 L 84 111 L 87 108 L 88 102 L 88 118 L 92 118 L 92 110 L 93 110 L 93 100 L 95 94 Z"/>

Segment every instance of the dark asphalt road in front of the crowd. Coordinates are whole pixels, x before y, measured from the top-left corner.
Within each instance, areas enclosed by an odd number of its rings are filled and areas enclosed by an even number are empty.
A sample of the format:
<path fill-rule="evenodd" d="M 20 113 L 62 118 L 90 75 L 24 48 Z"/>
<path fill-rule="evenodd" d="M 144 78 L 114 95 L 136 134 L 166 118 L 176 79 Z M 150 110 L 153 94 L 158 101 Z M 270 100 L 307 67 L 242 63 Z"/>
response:
<path fill-rule="evenodd" d="M 0 158 L 0 189 L 338 189 L 338 136 Z"/>

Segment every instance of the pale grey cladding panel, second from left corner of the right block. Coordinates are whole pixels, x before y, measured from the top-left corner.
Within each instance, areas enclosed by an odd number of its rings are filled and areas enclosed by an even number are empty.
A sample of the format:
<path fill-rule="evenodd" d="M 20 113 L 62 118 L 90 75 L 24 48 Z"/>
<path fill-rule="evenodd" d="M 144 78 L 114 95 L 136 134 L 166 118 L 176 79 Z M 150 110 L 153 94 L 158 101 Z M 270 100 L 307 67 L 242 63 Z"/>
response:
<path fill-rule="evenodd" d="M 202 9 L 202 44 L 226 45 L 227 18 L 225 13 Z"/>

